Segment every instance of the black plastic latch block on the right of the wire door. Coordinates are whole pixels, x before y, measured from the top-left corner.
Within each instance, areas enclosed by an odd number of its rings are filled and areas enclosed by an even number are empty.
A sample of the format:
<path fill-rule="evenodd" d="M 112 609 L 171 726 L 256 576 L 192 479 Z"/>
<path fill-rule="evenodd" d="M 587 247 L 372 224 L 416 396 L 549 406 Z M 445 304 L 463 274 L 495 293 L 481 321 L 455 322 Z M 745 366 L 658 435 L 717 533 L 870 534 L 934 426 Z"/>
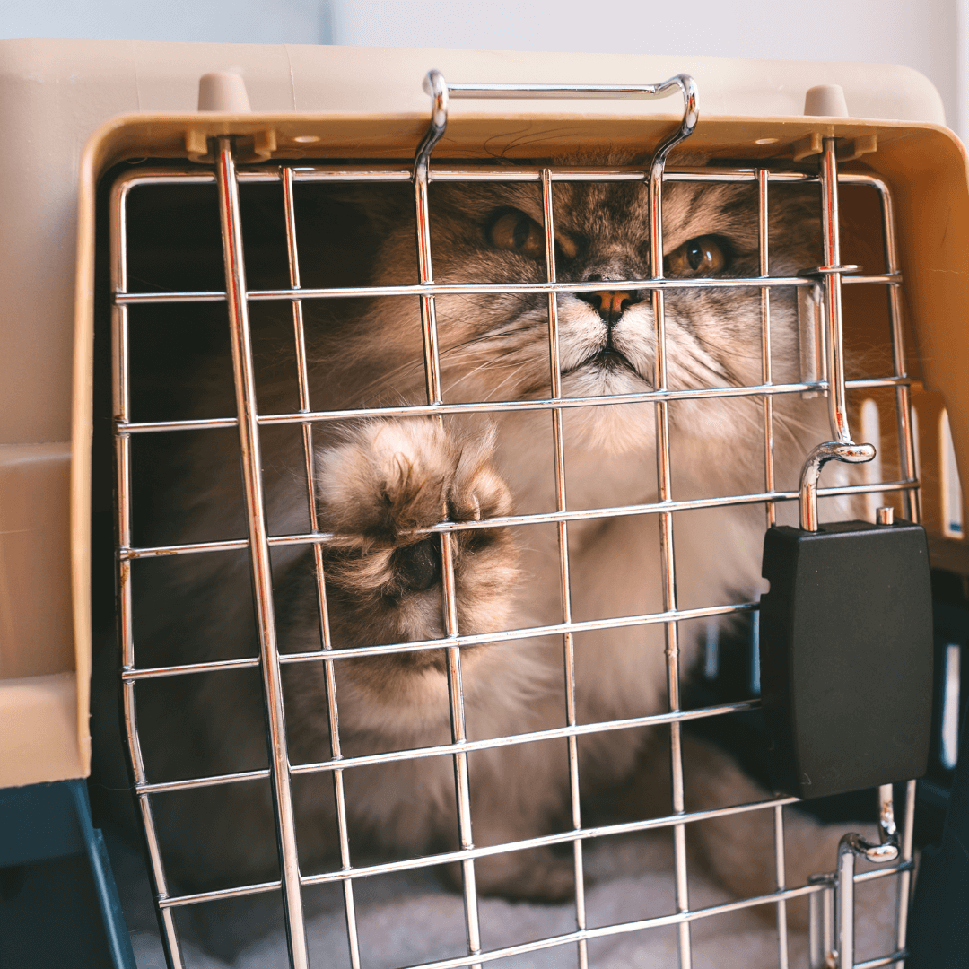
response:
<path fill-rule="evenodd" d="M 770 528 L 761 689 L 774 787 L 824 797 L 920 777 L 932 596 L 920 525 Z"/>

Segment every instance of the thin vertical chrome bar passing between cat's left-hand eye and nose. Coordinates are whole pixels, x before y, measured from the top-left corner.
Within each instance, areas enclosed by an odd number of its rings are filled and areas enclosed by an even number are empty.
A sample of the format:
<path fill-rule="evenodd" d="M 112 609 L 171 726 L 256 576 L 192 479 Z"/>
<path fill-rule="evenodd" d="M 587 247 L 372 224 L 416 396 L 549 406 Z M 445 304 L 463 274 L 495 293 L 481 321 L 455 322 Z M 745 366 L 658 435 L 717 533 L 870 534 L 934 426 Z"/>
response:
<path fill-rule="evenodd" d="M 555 223 L 552 205 L 551 172 L 546 170 L 542 177 L 542 216 L 545 229 L 546 271 L 549 283 L 555 282 Z M 551 397 L 562 395 L 562 367 L 558 353 L 558 303 L 554 293 L 548 294 L 548 370 Z M 562 433 L 562 410 L 554 408 L 551 412 L 552 447 L 555 468 L 555 507 L 559 513 L 567 509 L 565 492 L 565 439 Z M 569 523 L 565 519 L 558 522 L 558 561 L 560 594 L 562 597 L 562 622 L 572 623 L 572 583 L 569 563 Z M 576 642 L 572 632 L 562 635 L 562 662 L 565 667 L 565 715 L 569 727 L 575 727 L 576 719 Z M 581 805 L 578 788 L 578 736 L 569 735 L 569 794 L 572 810 L 572 827 L 582 827 Z M 582 863 L 582 842 L 577 838 L 572 843 L 574 877 L 576 880 L 576 928 L 585 928 L 585 869 Z M 588 944 L 584 939 L 578 942 L 578 969 L 588 969 Z"/>

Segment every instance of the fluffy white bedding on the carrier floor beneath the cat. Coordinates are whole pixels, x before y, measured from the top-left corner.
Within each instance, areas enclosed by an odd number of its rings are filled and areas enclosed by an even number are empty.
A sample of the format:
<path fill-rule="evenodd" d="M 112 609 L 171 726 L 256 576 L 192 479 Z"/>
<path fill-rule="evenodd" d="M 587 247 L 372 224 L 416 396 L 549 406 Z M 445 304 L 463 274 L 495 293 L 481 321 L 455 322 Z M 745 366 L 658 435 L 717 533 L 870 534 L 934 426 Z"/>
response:
<path fill-rule="evenodd" d="M 673 911 L 672 848 L 668 834 L 587 843 L 585 860 L 586 870 L 594 879 L 586 892 L 589 926 L 631 922 Z M 856 960 L 891 953 L 894 886 L 894 878 L 859 885 Z M 150 922 L 145 922 L 146 899 L 137 904 L 129 892 L 122 893 L 129 894 L 129 923 L 141 925 L 132 935 L 140 969 L 164 969 L 157 933 L 152 931 Z M 356 899 L 363 969 L 395 969 L 467 951 L 461 897 L 446 891 L 432 872 L 361 880 L 356 883 Z M 691 909 L 730 900 L 730 895 L 703 877 L 703 873 L 691 871 Z M 317 969 L 349 967 L 342 891 L 336 887 L 307 891 L 305 908 L 311 964 Z M 746 910 L 694 922 L 695 969 L 777 966 L 773 911 Z M 572 904 L 536 905 L 487 898 L 480 902 L 479 912 L 485 951 L 576 928 Z M 226 912 L 211 915 L 220 920 L 219 931 L 213 936 L 217 948 L 220 944 L 225 946 L 232 937 L 248 938 L 248 944 L 234 960 L 227 960 L 203 953 L 186 940 L 183 954 L 189 969 L 282 969 L 288 965 L 277 901 L 261 896 L 249 899 L 234 916 Z M 792 969 L 806 969 L 805 933 L 790 933 L 789 952 Z M 575 944 L 486 964 L 502 969 L 572 969 L 578 965 Z M 594 939 L 589 942 L 589 965 L 594 969 L 673 969 L 678 965 L 676 930 L 663 927 Z"/>

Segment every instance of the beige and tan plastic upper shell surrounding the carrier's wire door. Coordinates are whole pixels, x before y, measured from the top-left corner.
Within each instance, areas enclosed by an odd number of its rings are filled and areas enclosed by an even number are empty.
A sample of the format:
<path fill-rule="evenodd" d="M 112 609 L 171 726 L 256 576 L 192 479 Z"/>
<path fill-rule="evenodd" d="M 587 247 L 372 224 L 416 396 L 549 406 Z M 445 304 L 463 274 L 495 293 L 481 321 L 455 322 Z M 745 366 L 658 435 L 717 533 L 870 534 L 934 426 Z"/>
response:
<path fill-rule="evenodd" d="M 708 159 L 794 159 L 837 138 L 841 172 L 890 188 L 925 427 L 949 414 L 969 480 L 969 175 L 921 75 L 886 65 L 691 57 L 95 41 L 0 43 L 0 788 L 90 768 L 90 469 L 95 200 L 136 158 L 199 160 L 233 135 L 240 161 L 397 159 L 428 124 L 422 78 L 622 84 L 696 79 Z M 200 78 L 228 72 L 220 87 Z M 243 83 L 244 82 L 244 83 Z M 235 86 L 233 86 L 235 85 Z M 840 85 L 850 117 L 805 116 Z M 220 98 L 223 99 L 220 101 Z M 248 99 L 248 108 L 246 99 Z M 218 110 L 234 107 L 235 112 Z M 670 101 L 453 102 L 434 159 L 547 157 L 595 142 L 648 148 Z M 941 396 L 940 396 L 941 394 Z M 922 435 L 923 521 L 941 537 L 941 447 Z M 963 515 L 962 520 L 966 520 Z M 939 564 L 965 547 L 935 543 Z"/>

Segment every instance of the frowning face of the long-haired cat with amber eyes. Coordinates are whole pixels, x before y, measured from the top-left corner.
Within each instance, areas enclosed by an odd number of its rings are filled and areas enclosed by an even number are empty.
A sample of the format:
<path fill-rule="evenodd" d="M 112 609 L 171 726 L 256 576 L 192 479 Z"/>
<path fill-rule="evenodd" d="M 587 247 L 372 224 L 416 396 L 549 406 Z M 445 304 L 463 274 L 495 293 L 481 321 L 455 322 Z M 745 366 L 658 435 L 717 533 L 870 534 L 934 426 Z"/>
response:
<path fill-rule="evenodd" d="M 558 281 L 603 284 L 596 293 L 556 297 L 563 396 L 653 390 L 656 333 L 651 293 L 615 285 L 651 275 L 645 182 L 557 182 L 553 193 Z M 670 182 L 663 195 L 666 276 L 760 274 L 753 185 Z M 430 204 L 435 281 L 547 280 L 542 204 L 535 184 L 432 184 Z M 773 240 L 770 274 L 794 275 L 817 265 L 816 194 L 781 187 L 773 193 L 768 211 Z M 381 275 L 386 277 L 391 268 L 413 266 L 413 247 L 410 232 L 391 234 Z M 670 390 L 761 383 L 758 289 L 668 290 L 665 306 Z M 397 332 L 414 332 L 415 308 L 397 303 L 381 313 Z M 775 381 L 798 379 L 796 309 L 793 290 L 771 291 Z M 439 297 L 437 314 L 446 400 L 549 393 L 544 294 Z M 730 406 L 723 410 L 725 420 L 729 410 Z M 627 451 L 648 445 L 653 419 L 647 412 L 625 406 L 591 408 L 583 410 L 584 420 L 572 424 L 586 444 Z M 689 407 L 677 413 L 689 421 Z M 718 411 L 713 406 L 706 413 L 715 418 Z"/>

